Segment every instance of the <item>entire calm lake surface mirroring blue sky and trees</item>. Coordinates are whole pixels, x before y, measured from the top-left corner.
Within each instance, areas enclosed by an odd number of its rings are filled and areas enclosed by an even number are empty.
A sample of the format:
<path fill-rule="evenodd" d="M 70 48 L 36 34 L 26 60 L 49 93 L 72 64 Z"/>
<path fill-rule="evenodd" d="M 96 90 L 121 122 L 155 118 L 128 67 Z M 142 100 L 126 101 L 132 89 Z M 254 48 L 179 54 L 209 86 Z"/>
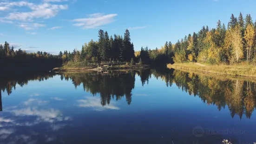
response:
<path fill-rule="evenodd" d="M 0 144 L 256 142 L 256 83 L 178 70 L 0 81 Z"/>

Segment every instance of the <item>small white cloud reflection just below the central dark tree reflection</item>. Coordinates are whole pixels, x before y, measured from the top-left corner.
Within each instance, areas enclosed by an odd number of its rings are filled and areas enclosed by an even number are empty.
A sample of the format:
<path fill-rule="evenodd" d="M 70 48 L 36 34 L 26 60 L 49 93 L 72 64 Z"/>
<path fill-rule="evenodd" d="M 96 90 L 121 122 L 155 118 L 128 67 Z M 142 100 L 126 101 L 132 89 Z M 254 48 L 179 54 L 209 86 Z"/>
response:
<path fill-rule="evenodd" d="M 114 105 L 102 106 L 100 98 L 97 97 L 85 97 L 85 99 L 79 99 L 79 107 L 92 107 L 95 111 L 103 111 L 104 109 L 119 110 L 120 108 Z"/>

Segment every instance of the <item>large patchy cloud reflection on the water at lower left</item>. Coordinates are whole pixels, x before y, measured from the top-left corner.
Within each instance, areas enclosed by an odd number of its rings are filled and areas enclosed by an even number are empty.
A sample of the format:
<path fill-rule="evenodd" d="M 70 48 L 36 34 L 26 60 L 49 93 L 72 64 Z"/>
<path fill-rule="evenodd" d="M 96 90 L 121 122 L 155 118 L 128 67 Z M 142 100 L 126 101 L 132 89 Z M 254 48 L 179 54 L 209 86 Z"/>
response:
<path fill-rule="evenodd" d="M 39 137 L 43 138 L 45 142 L 56 140 L 57 135 L 49 132 L 63 129 L 67 125 L 65 122 L 72 119 L 63 116 L 61 111 L 53 108 L 44 110 L 37 107 L 27 107 L 9 110 L 5 114 L 5 117 L 0 117 L 0 144 L 36 144 Z M 31 131 L 32 127 L 28 127 L 39 126 L 39 124 L 43 125 L 47 134 L 42 133 L 40 129 Z"/>

